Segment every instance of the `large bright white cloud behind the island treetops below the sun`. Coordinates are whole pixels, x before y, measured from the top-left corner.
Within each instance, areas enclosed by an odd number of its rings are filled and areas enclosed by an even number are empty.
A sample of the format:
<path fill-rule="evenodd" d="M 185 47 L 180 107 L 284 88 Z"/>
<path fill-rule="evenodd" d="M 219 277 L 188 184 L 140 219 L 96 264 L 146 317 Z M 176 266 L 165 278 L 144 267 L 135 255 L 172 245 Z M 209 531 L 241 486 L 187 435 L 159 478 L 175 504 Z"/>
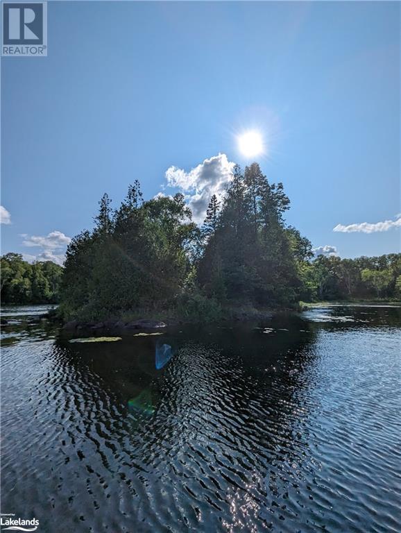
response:
<path fill-rule="evenodd" d="M 232 180 L 235 163 L 228 161 L 225 153 L 205 159 L 189 172 L 178 167 L 169 167 L 165 177 L 169 187 L 178 187 L 185 194 L 194 221 L 203 222 L 207 204 L 212 194 L 223 196 L 225 185 Z"/>

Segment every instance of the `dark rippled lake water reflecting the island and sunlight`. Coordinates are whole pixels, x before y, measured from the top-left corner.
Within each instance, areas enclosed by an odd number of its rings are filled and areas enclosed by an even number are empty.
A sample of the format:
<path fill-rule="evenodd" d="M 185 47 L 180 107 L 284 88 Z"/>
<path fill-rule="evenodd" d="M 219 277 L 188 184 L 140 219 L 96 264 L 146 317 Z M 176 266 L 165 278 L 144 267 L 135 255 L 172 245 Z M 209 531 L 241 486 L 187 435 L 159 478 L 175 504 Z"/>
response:
<path fill-rule="evenodd" d="M 93 344 L 34 313 L 3 328 L 3 513 L 46 533 L 401 531 L 400 308 Z"/>

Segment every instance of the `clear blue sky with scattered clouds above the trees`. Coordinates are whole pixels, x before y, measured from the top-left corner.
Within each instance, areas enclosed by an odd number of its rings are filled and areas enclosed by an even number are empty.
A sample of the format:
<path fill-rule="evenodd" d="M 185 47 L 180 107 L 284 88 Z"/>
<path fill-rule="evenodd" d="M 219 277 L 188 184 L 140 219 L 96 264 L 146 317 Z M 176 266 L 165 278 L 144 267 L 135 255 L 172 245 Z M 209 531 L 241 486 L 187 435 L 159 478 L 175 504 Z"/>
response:
<path fill-rule="evenodd" d="M 48 56 L 1 59 L 2 253 L 61 263 L 135 179 L 200 221 L 253 160 L 316 254 L 400 251 L 398 2 L 49 1 Z"/>

